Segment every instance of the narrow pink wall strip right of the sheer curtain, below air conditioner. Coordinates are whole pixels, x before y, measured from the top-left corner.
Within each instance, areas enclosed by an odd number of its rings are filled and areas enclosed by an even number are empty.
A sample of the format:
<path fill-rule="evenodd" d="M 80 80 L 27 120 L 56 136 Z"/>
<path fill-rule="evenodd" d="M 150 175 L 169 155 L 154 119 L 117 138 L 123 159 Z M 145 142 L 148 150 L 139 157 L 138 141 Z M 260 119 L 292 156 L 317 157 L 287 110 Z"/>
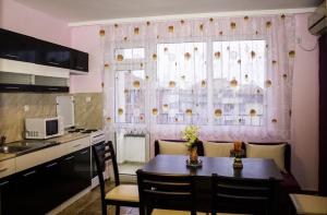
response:
<path fill-rule="evenodd" d="M 304 48 L 317 37 L 307 32 L 307 14 L 296 15 L 296 38 Z M 318 188 L 318 48 L 296 45 L 292 98 L 292 172 L 303 189 Z"/>

